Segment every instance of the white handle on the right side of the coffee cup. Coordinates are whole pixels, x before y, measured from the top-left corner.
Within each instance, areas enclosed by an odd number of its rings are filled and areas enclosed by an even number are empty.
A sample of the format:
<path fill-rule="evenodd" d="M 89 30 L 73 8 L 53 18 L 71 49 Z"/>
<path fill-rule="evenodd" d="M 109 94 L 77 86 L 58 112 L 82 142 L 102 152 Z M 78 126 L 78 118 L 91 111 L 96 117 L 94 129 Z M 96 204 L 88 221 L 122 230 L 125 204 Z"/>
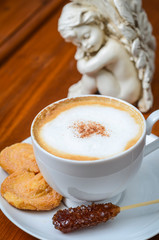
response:
<path fill-rule="evenodd" d="M 150 116 L 146 120 L 146 134 L 150 135 L 152 131 L 153 125 L 159 120 L 159 110 L 150 114 Z M 144 149 L 144 156 L 147 156 L 149 153 L 155 151 L 159 148 L 159 138 L 155 141 L 147 144 Z"/>

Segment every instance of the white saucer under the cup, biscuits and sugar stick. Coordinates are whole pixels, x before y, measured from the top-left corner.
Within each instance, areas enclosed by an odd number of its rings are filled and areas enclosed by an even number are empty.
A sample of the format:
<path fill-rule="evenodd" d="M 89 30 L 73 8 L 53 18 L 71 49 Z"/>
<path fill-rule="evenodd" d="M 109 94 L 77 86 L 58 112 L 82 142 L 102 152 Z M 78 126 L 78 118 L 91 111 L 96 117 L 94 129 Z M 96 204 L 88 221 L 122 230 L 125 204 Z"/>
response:
<path fill-rule="evenodd" d="M 148 142 L 156 137 L 151 135 Z M 30 139 L 27 139 L 30 142 Z M 140 171 L 124 192 L 119 206 L 159 199 L 159 150 L 145 157 Z M 0 184 L 7 174 L 0 169 Z M 52 216 L 58 210 L 32 212 L 18 210 L 0 196 L 3 213 L 19 228 L 42 240 L 145 240 L 159 233 L 159 204 L 126 210 L 107 223 L 96 227 L 63 234 L 52 225 Z M 64 208 L 61 204 L 59 207 Z"/>

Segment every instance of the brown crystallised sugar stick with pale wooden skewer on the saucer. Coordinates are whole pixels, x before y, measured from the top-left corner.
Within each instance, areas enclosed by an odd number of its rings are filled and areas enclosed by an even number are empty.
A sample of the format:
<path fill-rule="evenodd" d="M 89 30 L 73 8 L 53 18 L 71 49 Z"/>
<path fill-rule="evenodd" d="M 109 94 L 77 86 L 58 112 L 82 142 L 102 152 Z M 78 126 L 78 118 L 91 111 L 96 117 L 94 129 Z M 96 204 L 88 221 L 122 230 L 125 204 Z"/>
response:
<path fill-rule="evenodd" d="M 92 204 L 59 210 L 53 216 L 53 224 L 63 233 L 69 233 L 81 228 L 95 226 L 116 217 L 121 211 L 159 203 L 159 199 L 125 207 L 119 207 L 112 203 Z"/>

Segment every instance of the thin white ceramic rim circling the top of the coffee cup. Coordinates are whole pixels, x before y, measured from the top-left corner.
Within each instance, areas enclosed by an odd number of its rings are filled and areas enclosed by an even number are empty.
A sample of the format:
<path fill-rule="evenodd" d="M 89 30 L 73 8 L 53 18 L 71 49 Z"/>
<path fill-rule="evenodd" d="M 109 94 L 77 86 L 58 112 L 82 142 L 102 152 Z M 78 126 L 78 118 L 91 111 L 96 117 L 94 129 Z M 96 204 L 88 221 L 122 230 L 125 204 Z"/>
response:
<path fill-rule="evenodd" d="M 90 161 L 90 160 L 77 161 L 77 160 L 72 160 L 72 159 L 67 159 L 67 158 L 61 158 L 61 157 L 58 157 L 58 156 L 56 156 L 56 155 L 54 155 L 54 154 L 52 154 L 52 153 L 49 153 L 48 151 L 46 151 L 44 148 L 42 148 L 42 147 L 40 146 L 40 144 L 36 141 L 36 139 L 35 139 L 35 137 L 34 137 L 34 134 L 33 134 L 33 126 L 34 126 L 35 120 L 37 119 L 37 117 L 40 115 L 40 113 L 41 113 L 44 109 L 46 109 L 46 108 L 48 108 L 48 107 L 50 107 L 50 106 L 52 106 L 52 105 L 54 105 L 54 104 L 63 102 L 63 101 L 65 101 L 65 100 L 74 99 L 74 98 L 80 98 L 80 97 L 104 97 L 104 98 L 114 99 L 114 100 L 116 100 L 116 101 L 122 102 L 122 103 L 130 106 L 130 107 L 133 108 L 136 112 L 138 112 L 138 113 L 140 114 L 140 116 L 142 117 L 142 119 L 143 119 L 144 130 L 143 130 L 142 136 L 141 136 L 140 139 L 139 139 L 132 147 L 130 147 L 129 149 L 127 149 L 127 150 L 125 150 L 124 152 L 121 152 L 121 153 L 119 153 L 119 154 L 117 154 L 117 155 L 115 155 L 115 156 L 106 158 L 106 159 L 98 159 L 98 160 L 94 160 L 94 161 Z M 51 157 L 54 157 L 56 160 L 59 160 L 59 161 L 61 161 L 61 162 L 65 162 L 65 163 L 67 162 L 67 163 L 70 163 L 70 164 L 76 164 L 76 165 L 81 165 L 81 164 L 85 164 L 85 165 L 88 164 L 88 165 L 89 165 L 90 163 L 91 163 L 91 164 L 97 164 L 97 163 L 101 163 L 101 162 L 104 162 L 104 161 L 108 161 L 108 162 L 109 162 L 109 161 L 116 160 L 117 158 L 122 157 L 122 156 L 128 154 L 129 152 L 133 151 L 134 148 L 136 148 L 136 147 L 141 143 L 141 141 L 143 141 L 143 138 L 145 138 L 145 137 L 146 137 L 146 121 L 145 121 L 145 118 L 144 118 L 144 116 L 142 115 L 142 113 L 141 113 L 135 106 L 133 106 L 132 104 L 130 104 L 130 103 L 124 101 L 124 100 L 121 100 L 121 99 L 118 99 L 118 98 L 114 98 L 114 97 L 110 97 L 110 96 L 104 96 L 104 95 L 90 94 L 90 95 L 81 95 L 81 96 L 76 96 L 76 97 L 67 97 L 67 98 L 60 99 L 60 100 L 58 100 L 58 101 L 56 101 L 56 102 L 53 102 L 53 103 L 47 105 L 45 108 L 43 108 L 43 109 L 35 116 L 35 118 L 33 119 L 32 124 L 31 124 L 31 140 L 32 140 L 32 143 L 34 142 L 34 144 L 36 145 L 36 147 L 38 147 L 43 153 L 45 153 L 45 154 L 47 154 L 47 155 L 49 155 L 49 156 L 51 156 Z"/>

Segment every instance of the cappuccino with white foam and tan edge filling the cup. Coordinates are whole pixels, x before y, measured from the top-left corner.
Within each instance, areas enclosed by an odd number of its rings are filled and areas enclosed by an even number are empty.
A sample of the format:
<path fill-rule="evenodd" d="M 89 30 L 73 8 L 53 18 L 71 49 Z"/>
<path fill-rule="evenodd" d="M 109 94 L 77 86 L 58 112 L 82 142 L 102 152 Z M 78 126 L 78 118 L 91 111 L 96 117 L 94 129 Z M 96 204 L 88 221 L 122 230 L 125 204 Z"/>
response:
<path fill-rule="evenodd" d="M 33 135 L 55 156 L 97 160 L 131 148 L 143 129 L 142 116 L 130 105 L 113 98 L 84 96 L 43 109 L 34 121 Z"/>

